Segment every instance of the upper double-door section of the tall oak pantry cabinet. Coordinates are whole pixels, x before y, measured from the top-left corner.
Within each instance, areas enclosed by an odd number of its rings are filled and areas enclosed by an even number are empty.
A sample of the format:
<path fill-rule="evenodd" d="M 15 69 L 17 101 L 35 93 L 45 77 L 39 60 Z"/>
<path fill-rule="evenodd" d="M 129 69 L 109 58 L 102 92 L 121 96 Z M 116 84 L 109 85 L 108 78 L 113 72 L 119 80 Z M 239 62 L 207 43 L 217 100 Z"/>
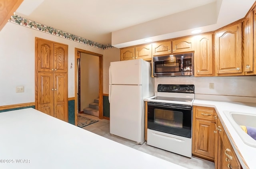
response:
<path fill-rule="evenodd" d="M 36 38 L 37 71 L 66 73 L 68 70 L 68 45 Z"/>

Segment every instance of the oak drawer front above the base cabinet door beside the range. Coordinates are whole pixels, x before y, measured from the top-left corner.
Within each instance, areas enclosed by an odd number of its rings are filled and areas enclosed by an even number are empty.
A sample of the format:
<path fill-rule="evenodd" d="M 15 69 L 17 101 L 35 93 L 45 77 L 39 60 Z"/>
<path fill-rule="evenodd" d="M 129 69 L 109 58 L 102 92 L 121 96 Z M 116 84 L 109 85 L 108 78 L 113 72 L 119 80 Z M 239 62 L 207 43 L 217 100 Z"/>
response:
<path fill-rule="evenodd" d="M 214 108 L 196 106 L 196 118 L 215 121 L 216 119 L 214 116 L 216 116 L 216 111 Z"/>

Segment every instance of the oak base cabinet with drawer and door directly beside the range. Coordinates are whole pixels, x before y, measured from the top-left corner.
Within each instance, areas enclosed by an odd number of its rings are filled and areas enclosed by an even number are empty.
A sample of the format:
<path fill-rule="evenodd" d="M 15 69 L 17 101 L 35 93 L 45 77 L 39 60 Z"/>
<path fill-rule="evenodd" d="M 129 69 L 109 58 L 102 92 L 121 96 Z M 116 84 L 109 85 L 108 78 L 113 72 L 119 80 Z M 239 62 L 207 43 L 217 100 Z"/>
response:
<path fill-rule="evenodd" d="M 216 133 L 214 108 L 193 107 L 192 154 L 214 161 Z"/>

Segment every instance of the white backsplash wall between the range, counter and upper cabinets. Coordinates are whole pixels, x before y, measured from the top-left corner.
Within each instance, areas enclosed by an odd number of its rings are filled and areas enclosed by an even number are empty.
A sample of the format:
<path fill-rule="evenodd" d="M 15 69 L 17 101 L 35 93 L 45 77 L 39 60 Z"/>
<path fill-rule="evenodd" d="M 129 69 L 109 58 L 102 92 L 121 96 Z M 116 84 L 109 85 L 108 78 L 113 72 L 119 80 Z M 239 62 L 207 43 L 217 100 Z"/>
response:
<path fill-rule="evenodd" d="M 214 83 L 214 89 L 209 89 Z M 155 92 L 158 84 L 195 85 L 195 94 L 256 97 L 256 76 L 251 77 L 158 77 L 155 78 Z"/>

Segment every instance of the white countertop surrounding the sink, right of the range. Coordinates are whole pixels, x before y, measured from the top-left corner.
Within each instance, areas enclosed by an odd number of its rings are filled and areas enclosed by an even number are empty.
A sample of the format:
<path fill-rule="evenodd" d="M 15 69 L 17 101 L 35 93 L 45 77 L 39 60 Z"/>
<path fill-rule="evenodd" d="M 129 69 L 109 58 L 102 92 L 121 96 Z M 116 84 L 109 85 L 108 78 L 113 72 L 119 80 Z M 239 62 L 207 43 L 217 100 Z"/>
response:
<path fill-rule="evenodd" d="M 237 100 L 237 99 L 236 99 Z M 235 153 L 240 161 L 242 167 L 246 169 L 246 165 L 250 169 L 256 169 L 256 148 L 246 145 L 241 138 L 238 136 L 237 132 L 233 128 L 232 124 L 229 122 L 228 118 L 225 116 L 223 111 L 234 111 L 234 112 L 244 112 L 244 113 L 255 113 L 256 114 L 256 103 L 249 102 L 232 102 L 232 101 L 223 101 L 223 100 L 205 100 L 205 99 L 197 99 L 195 98 L 193 102 L 194 106 L 206 106 L 206 107 L 214 107 L 218 118 L 220 121 L 224 123 L 224 130 L 230 133 L 228 138 L 235 150 Z M 232 137 L 232 139 L 230 138 Z M 234 142 L 233 142 L 233 141 Z M 234 146 L 237 146 L 237 148 Z M 240 152 L 240 154 L 238 153 Z M 244 161 L 242 160 L 244 159 Z"/>

